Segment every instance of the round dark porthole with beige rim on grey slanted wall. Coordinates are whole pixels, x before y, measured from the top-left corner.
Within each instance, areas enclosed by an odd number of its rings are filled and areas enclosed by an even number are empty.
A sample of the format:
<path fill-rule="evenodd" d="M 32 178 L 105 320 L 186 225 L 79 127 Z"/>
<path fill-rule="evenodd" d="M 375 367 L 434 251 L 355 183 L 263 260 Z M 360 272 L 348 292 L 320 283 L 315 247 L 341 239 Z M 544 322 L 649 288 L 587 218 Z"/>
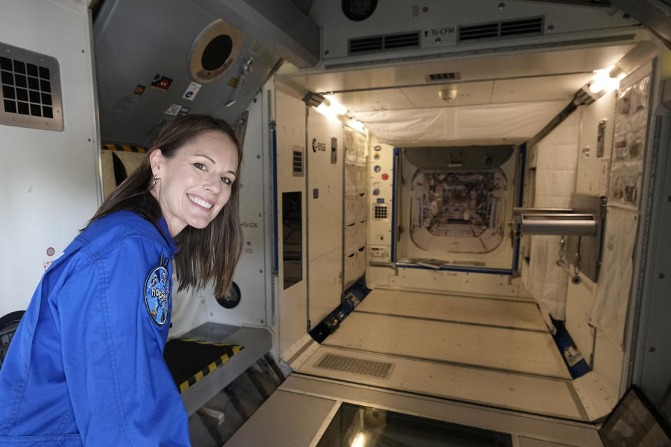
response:
<path fill-rule="evenodd" d="M 198 82 L 212 82 L 233 66 L 243 34 L 224 20 L 206 27 L 196 38 L 191 52 L 191 75 Z"/>

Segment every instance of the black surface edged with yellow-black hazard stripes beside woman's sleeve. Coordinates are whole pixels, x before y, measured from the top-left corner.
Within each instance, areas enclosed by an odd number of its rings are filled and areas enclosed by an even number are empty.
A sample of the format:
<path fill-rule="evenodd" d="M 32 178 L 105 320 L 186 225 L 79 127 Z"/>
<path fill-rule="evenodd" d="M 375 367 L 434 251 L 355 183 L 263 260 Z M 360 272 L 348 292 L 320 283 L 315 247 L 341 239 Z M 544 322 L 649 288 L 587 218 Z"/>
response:
<path fill-rule="evenodd" d="M 184 338 L 171 339 L 166 344 L 164 358 L 173 375 L 175 385 L 180 393 L 184 393 L 197 381 L 228 362 L 242 349 L 244 346 L 229 343 Z"/>

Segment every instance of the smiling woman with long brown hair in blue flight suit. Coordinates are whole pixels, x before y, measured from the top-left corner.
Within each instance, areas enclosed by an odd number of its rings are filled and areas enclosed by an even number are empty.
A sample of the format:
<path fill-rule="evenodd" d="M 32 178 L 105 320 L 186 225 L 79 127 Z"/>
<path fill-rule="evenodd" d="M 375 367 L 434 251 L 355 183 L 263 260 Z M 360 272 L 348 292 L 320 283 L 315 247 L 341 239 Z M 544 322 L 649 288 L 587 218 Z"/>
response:
<path fill-rule="evenodd" d="M 189 445 L 163 360 L 170 261 L 180 289 L 229 290 L 241 160 L 225 122 L 165 126 L 38 285 L 0 369 L 0 445 Z"/>

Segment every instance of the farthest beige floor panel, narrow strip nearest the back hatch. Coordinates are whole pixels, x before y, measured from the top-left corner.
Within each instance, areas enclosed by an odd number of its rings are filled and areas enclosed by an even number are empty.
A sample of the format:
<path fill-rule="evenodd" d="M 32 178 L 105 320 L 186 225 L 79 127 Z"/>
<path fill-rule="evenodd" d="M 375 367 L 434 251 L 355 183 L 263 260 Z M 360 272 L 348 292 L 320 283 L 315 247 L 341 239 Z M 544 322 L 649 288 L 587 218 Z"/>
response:
<path fill-rule="evenodd" d="M 408 291 L 375 289 L 356 308 L 397 316 L 432 318 L 444 321 L 473 323 L 547 331 L 535 302 L 472 298 Z"/>

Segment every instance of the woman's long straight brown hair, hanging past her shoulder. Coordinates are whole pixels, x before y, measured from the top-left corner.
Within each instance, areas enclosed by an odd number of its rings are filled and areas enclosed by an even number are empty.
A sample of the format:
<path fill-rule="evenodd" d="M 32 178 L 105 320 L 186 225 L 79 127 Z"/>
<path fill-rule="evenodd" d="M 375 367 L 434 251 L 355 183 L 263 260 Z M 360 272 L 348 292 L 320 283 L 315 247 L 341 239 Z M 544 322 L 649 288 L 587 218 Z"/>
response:
<path fill-rule="evenodd" d="M 233 141 L 238 152 L 236 181 L 233 182 L 228 203 L 208 226 L 202 229 L 186 226 L 175 236 L 175 245 L 178 247 L 175 270 L 180 282 L 178 290 L 202 288 L 208 281 L 214 280 L 215 296 L 223 297 L 229 293 L 233 272 L 243 249 L 243 234 L 240 230 L 240 165 L 243 161 L 243 147 L 235 129 L 222 119 L 207 115 L 186 115 L 168 122 L 140 166 L 105 199 L 87 226 L 113 212 L 128 210 L 140 214 L 159 228 L 161 205 L 149 193 L 154 179 L 149 154 L 161 149 L 161 154 L 171 159 L 182 146 L 201 133 L 210 131 L 222 132 Z"/>

